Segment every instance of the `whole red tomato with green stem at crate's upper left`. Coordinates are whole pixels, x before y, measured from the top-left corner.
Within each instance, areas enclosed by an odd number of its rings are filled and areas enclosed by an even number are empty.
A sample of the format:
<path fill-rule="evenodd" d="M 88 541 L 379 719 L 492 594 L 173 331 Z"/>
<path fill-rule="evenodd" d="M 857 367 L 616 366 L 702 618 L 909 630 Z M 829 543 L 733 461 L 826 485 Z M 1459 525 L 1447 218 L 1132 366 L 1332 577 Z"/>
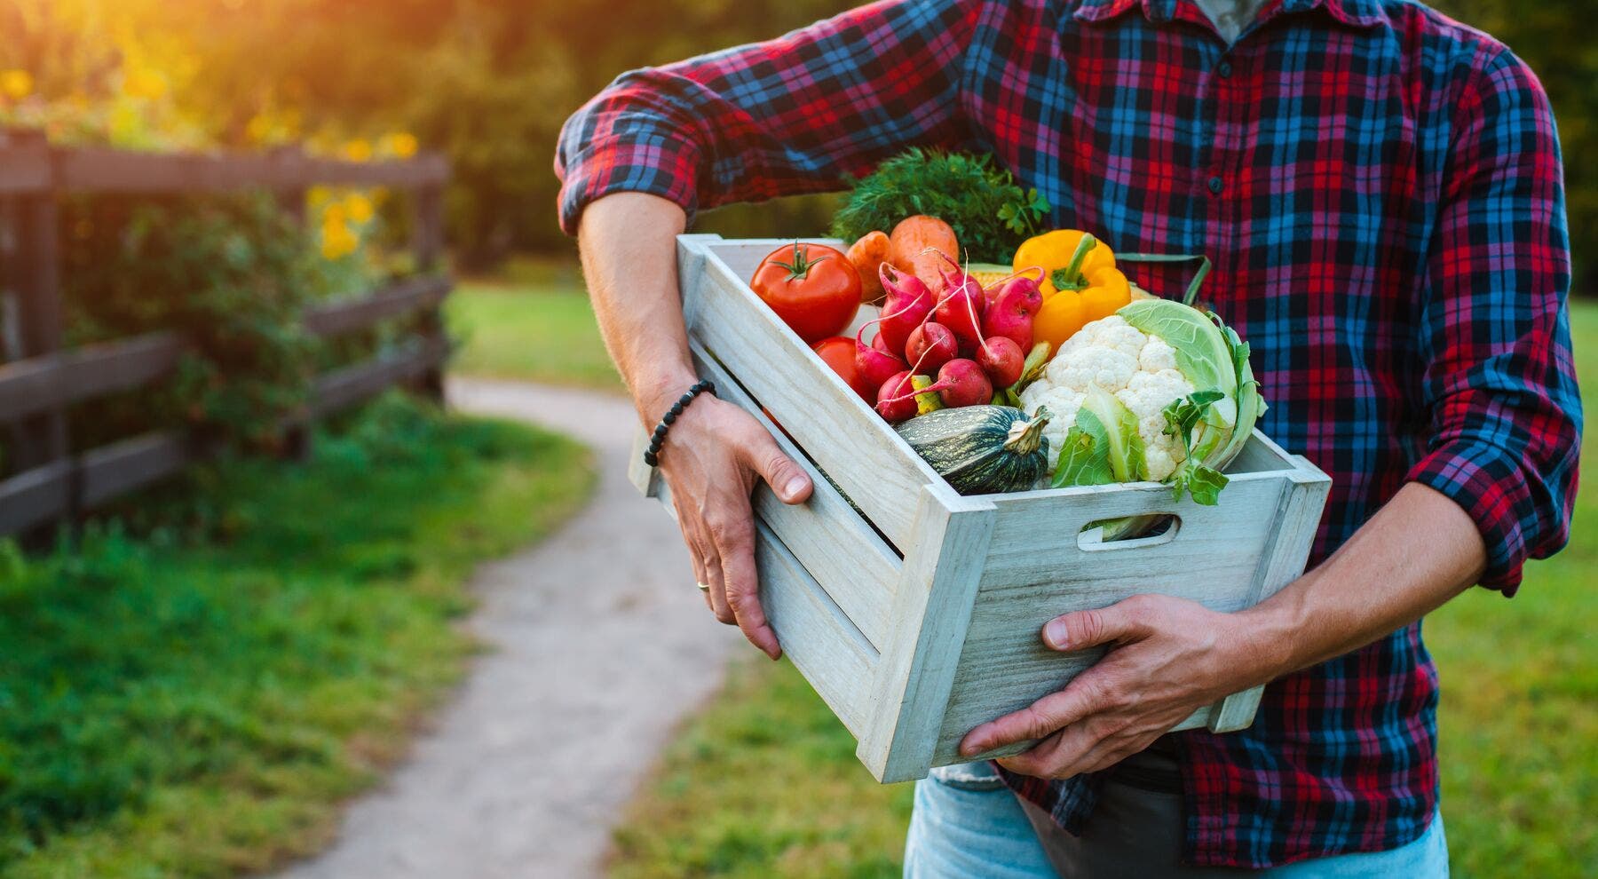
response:
<path fill-rule="evenodd" d="M 825 245 L 777 248 L 761 261 L 749 288 L 807 345 L 842 332 L 860 308 L 860 273 Z"/>

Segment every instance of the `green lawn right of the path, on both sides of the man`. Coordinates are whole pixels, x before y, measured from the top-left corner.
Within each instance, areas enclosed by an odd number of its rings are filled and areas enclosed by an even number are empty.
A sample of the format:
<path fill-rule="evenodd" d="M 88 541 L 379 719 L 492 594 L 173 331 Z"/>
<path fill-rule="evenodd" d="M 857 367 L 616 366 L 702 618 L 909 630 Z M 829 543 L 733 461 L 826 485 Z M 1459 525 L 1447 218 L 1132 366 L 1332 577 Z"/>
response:
<path fill-rule="evenodd" d="M 1598 388 L 1598 305 L 1574 313 L 1577 366 Z M 1598 460 L 1588 430 L 1584 460 Z M 1598 479 L 1571 545 L 1532 563 L 1513 601 L 1472 590 L 1427 617 L 1443 681 L 1443 815 L 1456 876 L 1582 876 L 1598 863 Z M 733 663 L 617 836 L 612 874 L 900 874 L 909 786 L 882 788 L 786 662 Z"/>

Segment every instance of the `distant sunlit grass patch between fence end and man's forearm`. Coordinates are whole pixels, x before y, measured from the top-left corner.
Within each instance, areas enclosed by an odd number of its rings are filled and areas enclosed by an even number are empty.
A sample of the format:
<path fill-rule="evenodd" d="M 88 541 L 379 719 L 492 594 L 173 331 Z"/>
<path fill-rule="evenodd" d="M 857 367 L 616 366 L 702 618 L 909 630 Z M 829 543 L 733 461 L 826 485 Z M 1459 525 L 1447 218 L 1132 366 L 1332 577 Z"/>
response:
<path fill-rule="evenodd" d="M 569 262 L 515 261 L 491 280 L 462 283 L 446 310 L 465 342 L 459 372 L 623 390 Z"/>

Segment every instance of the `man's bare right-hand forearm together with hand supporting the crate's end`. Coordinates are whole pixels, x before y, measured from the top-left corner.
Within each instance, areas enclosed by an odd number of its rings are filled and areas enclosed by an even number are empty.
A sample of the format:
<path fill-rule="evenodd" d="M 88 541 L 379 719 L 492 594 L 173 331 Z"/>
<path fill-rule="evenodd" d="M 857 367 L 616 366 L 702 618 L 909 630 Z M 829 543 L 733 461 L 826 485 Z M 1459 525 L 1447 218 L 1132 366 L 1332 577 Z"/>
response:
<path fill-rule="evenodd" d="M 1477 582 L 1486 547 L 1446 495 L 1409 483 L 1320 567 L 1237 614 L 1136 595 L 1050 620 L 1056 650 L 1109 646 L 1066 689 L 986 722 L 964 754 L 1042 738 L 999 761 L 1012 772 L 1067 778 L 1149 746 L 1198 706 L 1355 650 Z"/>

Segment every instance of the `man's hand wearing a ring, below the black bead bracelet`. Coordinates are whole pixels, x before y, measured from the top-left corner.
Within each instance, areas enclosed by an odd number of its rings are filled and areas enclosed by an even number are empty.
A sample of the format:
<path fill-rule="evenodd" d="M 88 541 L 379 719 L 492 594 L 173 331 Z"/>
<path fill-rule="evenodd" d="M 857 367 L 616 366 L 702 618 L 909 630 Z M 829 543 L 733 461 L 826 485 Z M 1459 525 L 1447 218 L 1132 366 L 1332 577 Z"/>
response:
<path fill-rule="evenodd" d="M 751 644 L 780 657 L 777 633 L 761 609 L 749 492 L 759 478 L 783 503 L 801 503 L 810 497 L 810 478 L 748 412 L 708 393 L 671 425 L 660 473 L 671 486 L 694 575 L 710 585 L 705 601 L 716 618 L 737 623 Z"/>

